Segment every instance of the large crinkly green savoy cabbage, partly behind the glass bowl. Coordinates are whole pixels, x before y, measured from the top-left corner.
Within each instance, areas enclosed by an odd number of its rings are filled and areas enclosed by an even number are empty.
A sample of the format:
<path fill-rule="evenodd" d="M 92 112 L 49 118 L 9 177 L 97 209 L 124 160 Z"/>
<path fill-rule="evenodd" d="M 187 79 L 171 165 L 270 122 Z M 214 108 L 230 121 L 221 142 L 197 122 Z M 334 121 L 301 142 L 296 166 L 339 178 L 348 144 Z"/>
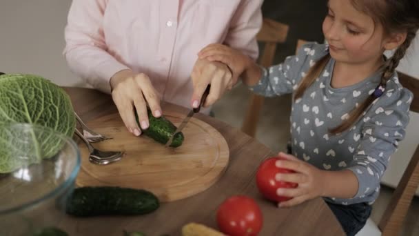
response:
<path fill-rule="evenodd" d="M 32 132 L 31 145 L 19 146 L 21 133 L 6 128 L 14 123 L 46 126 L 68 137 L 76 127 L 70 97 L 59 86 L 36 75 L 0 75 L 0 173 L 53 157 L 63 145 L 50 135 Z M 17 159 L 19 153 L 33 153 L 34 158 Z"/>

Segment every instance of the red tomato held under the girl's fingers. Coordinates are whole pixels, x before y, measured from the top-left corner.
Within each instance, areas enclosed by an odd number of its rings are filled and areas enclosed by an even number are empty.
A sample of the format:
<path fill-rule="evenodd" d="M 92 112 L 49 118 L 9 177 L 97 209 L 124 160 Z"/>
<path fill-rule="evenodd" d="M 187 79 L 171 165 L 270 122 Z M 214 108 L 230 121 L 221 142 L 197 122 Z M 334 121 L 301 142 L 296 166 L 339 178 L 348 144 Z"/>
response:
<path fill-rule="evenodd" d="M 295 173 L 294 170 L 285 168 L 278 168 L 275 162 L 284 159 L 283 157 L 270 157 L 260 164 L 258 172 L 256 173 L 256 185 L 267 199 L 272 201 L 287 201 L 292 197 L 283 197 L 276 194 L 278 188 L 296 188 L 298 184 L 284 181 L 276 181 L 275 175 L 277 173 Z"/>

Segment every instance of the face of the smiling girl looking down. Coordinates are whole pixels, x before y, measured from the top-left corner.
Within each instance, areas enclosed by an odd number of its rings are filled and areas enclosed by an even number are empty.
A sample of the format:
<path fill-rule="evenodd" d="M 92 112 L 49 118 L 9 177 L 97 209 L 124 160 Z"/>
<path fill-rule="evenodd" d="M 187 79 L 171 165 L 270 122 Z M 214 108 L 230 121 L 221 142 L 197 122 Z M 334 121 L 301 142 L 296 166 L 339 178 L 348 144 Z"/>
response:
<path fill-rule="evenodd" d="M 336 61 L 367 63 L 384 52 L 382 26 L 354 8 L 350 0 L 329 0 L 323 34 Z"/>

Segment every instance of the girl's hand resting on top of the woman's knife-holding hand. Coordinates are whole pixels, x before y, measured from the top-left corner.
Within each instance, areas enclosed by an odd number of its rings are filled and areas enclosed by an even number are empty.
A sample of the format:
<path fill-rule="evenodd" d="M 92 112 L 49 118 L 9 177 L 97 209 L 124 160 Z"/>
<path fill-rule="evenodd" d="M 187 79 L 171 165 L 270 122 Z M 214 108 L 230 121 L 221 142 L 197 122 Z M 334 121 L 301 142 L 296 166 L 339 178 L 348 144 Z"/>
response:
<path fill-rule="evenodd" d="M 198 57 L 200 59 L 225 63 L 232 70 L 233 85 L 236 84 L 238 77 L 245 71 L 249 64 L 252 63 L 249 57 L 243 55 L 239 50 L 229 48 L 220 43 L 206 46 L 198 52 Z"/>

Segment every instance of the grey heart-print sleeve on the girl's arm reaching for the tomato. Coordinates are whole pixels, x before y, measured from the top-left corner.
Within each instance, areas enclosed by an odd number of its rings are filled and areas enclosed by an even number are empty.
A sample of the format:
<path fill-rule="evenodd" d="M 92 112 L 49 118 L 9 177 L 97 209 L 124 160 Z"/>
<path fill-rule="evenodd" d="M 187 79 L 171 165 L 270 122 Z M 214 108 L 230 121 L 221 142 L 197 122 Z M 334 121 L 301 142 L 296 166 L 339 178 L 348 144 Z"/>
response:
<path fill-rule="evenodd" d="M 371 195 L 380 189 L 380 179 L 389 159 L 405 137 L 412 98 L 411 92 L 405 88 L 390 89 L 376 99 L 362 117 L 365 125 L 359 134 L 360 145 L 349 167 L 358 178 L 359 188 L 354 198 Z"/>

